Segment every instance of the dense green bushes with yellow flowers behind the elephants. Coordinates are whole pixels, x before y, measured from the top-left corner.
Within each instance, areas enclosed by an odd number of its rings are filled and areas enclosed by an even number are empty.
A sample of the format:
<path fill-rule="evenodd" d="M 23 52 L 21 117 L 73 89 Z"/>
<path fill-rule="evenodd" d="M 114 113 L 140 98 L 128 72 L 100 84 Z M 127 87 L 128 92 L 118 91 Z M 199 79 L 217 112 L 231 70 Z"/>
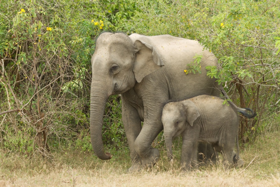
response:
<path fill-rule="evenodd" d="M 67 146 L 91 150 L 90 58 L 104 30 L 201 42 L 220 63 L 220 71 L 208 67 L 208 75 L 224 85 L 234 103 L 258 113 L 240 123 L 242 142 L 253 141 L 267 128 L 264 118 L 279 112 L 279 4 L 2 0 L 0 148 L 26 155 Z M 105 111 L 103 140 L 113 149 L 126 145 L 120 105 L 119 96 L 112 96 Z"/>

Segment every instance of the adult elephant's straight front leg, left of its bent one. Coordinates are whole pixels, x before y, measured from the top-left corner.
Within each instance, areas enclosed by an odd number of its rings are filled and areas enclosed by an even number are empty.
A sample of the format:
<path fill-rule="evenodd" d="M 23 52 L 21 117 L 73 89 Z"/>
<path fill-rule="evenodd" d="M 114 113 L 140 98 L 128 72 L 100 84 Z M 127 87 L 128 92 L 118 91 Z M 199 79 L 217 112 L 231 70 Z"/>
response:
<path fill-rule="evenodd" d="M 138 137 L 141 131 L 141 119 L 139 117 L 138 111 L 128 105 L 128 102 L 122 98 L 122 119 L 124 124 L 124 130 L 128 140 L 130 158 L 132 161 L 131 167 L 128 169 L 129 172 L 140 171 L 140 156 L 134 149 L 134 141 Z"/>

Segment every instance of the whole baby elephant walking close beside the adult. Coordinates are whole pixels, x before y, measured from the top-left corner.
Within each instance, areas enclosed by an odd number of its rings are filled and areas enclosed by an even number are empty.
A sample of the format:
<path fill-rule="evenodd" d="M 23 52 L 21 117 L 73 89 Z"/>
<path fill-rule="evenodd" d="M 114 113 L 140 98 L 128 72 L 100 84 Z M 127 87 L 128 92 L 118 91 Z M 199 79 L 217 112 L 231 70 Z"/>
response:
<path fill-rule="evenodd" d="M 239 118 L 237 110 L 223 102 L 221 98 L 200 95 L 179 102 L 167 103 L 164 106 L 161 120 L 167 155 L 170 159 L 173 158 L 172 140 L 181 134 L 183 169 L 197 168 L 199 141 L 210 143 L 217 152 L 221 153 L 226 168 L 238 162 Z M 235 140 L 237 141 L 236 155 L 233 152 Z"/>

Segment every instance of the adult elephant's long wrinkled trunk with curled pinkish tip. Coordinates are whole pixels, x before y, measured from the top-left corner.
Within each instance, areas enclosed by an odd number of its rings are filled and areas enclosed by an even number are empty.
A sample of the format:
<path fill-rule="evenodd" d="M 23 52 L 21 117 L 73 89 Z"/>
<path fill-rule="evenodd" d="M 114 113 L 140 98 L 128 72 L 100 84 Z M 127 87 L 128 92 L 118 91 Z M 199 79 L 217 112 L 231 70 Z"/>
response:
<path fill-rule="evenodd" d="M 104 152 L 102 142 L 103 116 L 109 95 L 108 86 L 100 84 L 100 82 L 96 83 L 96 81 L 92 81 L 90 114 L 91 145 L 96 156 L 102 160 L 109 160 L 112 158 L 110 153 Z"/>

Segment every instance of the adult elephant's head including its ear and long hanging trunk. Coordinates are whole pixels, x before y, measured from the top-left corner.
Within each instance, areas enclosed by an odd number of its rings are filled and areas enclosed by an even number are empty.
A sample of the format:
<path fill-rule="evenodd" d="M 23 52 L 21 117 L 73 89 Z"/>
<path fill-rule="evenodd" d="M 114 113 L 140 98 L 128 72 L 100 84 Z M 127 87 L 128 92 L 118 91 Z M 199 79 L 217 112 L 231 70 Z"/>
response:
<path fill-rule="evenodd" d="M 91 65 L 91 144 L 100 159 L 108 160 L 112 156 L 104 152 L 101 132 L 108 97 L 133 88 L 136 81 L 141 82 L 145 76 L 158 70 L 163 62 L 148 43 L 135 40 L 135 37 L 131 40 L 123 33 L 104 32 L 96 40 Z"/>

